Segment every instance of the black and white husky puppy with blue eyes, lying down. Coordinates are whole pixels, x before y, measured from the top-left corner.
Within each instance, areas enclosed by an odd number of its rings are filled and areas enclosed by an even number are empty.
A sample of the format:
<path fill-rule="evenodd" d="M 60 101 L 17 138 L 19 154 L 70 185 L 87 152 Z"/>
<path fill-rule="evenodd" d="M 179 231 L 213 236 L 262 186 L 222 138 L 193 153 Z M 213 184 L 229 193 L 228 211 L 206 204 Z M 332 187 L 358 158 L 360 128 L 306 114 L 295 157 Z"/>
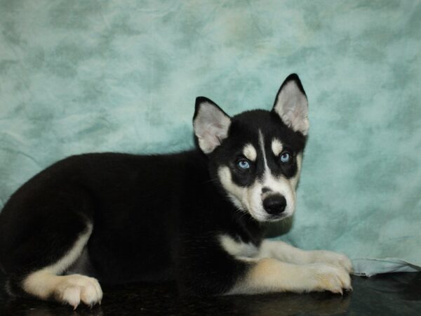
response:
<path fill-rule="evenodd" d="M 10 294 L 100 303 L 100 282 L 174 280 L 184 294 L 351 289 L 349 259 L 265 240 L 293 215 L 309 129 L 296 74 L 272 110 L 229 117 L 196 99 L 197 149 L 81 154 L 53 164 L 0 213 Z"/>

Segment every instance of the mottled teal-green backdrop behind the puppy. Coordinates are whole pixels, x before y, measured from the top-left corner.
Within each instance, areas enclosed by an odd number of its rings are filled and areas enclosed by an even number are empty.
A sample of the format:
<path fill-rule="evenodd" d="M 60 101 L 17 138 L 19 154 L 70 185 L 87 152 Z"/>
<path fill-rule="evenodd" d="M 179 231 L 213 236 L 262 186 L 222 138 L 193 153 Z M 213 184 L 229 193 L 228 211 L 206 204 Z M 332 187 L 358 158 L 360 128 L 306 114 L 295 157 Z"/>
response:
<path fill-rule="evenodd" d="M 420 1 L 0 4 L 1 205 L 69 154 L 187 149 L 196 96 L 269 109 L 297 72 L 311 129 L 286 239 L 359 272 L 421 265 Z"/>

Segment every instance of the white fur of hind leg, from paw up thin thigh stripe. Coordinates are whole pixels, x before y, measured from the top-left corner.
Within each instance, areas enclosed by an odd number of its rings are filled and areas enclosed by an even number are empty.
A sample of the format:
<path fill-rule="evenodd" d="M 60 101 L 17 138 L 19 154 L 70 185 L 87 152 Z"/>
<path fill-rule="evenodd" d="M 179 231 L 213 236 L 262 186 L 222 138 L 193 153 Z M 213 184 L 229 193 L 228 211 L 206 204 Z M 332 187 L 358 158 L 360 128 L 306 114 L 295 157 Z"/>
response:
<path fill-rule="evenodd" d="M 22 282 L 25 291 L 43 299 L 53 296 L 74 308 L 81 301 L 86 305 L 100 303 L 102 290 L 97 279 L 84 275 L 60 275 L 79 258 L 91 232 L 92 225 L 88 224 L 86 232 L 79 236 L 65 256 L 53 265 L 29 274 Z"/>

